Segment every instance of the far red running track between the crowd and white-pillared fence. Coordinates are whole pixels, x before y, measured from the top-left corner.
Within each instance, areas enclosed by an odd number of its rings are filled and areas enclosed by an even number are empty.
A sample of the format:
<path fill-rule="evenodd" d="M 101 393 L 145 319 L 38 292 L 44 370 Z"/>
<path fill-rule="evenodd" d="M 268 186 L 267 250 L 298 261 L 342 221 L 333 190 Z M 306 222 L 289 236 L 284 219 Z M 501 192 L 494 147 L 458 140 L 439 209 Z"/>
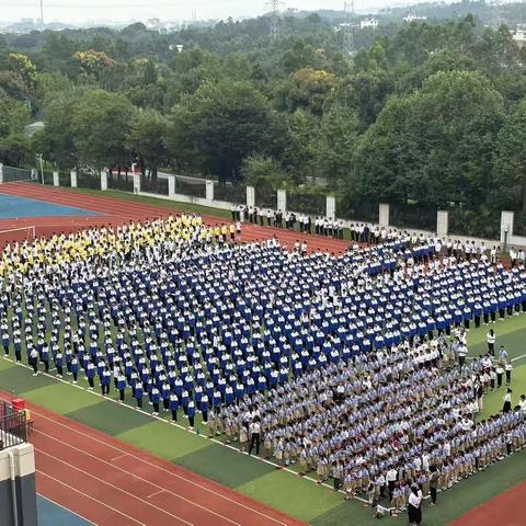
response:
<path fill-rule="evenodd" d="M 55 216 L 55 217 L 30 217 L 0 219 L 0 230 L 12 228 L 21 228 L 35 226 L 37 236 L 50 237 L 54 233 L 69 233 L 85 228 L 118 226 L 129 221 L 139 221 L 146 219 L 155 219 L 159 217 L 168 217 L 170 214 L 176 214 L 178 210 L 162 207 L 160 201 L 159 206 L 146 205 L 134 201 L 115 199 L 105 196 L 82 194 L 71 192 L 66 188 L 57 188 L 53 186 L 43 186 L 34 183 L 9 183 L 0 185 L 0 193 L 31 199 L 44 201 L 65 206 L 73 206 L 91 211 L 98 211 L 101 216 Z M 124 194 L 123 194 L 124 195 Z M 225 218 L 214 216 L 203 216 L 208 225 L 217 225 L 227 221 Z M 1 239 L 2 242 L 13 240 L 23 240 L 23 232 L 5 235 L 8 239 Z M 275 236 L 279 242 L 291 248 L 296 240 L 306 241 L 309 251 L 320 249 L 324 252 L 341 253 L 348 248 L 348 241 L 327 238 L 322 236 L 304 235 L 281 228 L 261 227 L 258 225 L 243 224 L 241 240 L 242 241 L 262 241 Z"/>

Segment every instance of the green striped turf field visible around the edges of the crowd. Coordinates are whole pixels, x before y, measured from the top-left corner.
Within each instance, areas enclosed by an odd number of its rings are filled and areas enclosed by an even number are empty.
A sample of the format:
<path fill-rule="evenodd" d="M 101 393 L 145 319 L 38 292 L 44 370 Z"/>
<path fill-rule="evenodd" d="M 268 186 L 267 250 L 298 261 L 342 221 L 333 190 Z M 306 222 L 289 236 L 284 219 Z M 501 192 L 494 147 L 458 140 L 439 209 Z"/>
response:
<path fill-rule="evenodd" d="M 514 317 L 492 327 L 498 336 L 496 345 L 504 345 L 514 359 L 512 387 L 515 402 L 522 392 L 526 393 L 526 316 Z M 470 355 L 485 351 L 487 329 L 483 327 L 469 333 Z M 67 380 L 59 381 L 45 375 L 34 378 L 26 367 L 2 358 L 0 389 L 217 480 L 309 524 L 376 524 L 370 510 L 364 508 L 357 500 L 345 502 L 342 494 L 317 485 L 308 477 L 300 478 L 294 470 L 275 469 L 270 462 L 249 458 L 226 447 L 220 441 L 211 442 L 206 437 L 206 427 L 201 424 L 197 425 L 198 433 L 188 433 L 170 425 L 162 418 L 156 419 L 147 412 L 103 399 L 96 392 L 85 390 L 82 380 L 79 386 L 72 386 Z M 489 393 L 484 399 L 482 416 L 498 412 L 503 396 L 504 388 Z M 441 493 L 439 505 L 424 511 L 425 524 L 446 524 L 524 480 L 525 472 L 526 451 L 491 466 L 484 473 Z"/>

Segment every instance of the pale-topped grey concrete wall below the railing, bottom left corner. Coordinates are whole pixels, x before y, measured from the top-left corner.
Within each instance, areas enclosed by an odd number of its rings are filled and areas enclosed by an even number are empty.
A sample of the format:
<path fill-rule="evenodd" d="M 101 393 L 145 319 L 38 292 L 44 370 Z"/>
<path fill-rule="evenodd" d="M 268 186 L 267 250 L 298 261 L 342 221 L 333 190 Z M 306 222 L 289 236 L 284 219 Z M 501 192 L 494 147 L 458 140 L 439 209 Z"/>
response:
<path fill-rule="evenodd" d="M 36 526 L 35 455 L 31 444 L 0 451 L 0 525 L 14 525 L 9 454 L 14 456 L 19 526 Z"/>

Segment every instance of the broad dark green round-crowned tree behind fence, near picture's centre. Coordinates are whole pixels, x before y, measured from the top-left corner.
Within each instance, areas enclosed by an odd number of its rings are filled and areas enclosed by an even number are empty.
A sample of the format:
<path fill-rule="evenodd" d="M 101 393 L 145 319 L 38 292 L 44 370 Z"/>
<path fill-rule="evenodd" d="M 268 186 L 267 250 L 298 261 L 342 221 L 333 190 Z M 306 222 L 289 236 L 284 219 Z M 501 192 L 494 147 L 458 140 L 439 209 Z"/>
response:
<path fill-rule="evenodd" d="M 285 129 L 248 82 L 205 83 L 173 108 L 170 151 L 178 165 L 237 180 L 244 158 L 279 155 Z"/>

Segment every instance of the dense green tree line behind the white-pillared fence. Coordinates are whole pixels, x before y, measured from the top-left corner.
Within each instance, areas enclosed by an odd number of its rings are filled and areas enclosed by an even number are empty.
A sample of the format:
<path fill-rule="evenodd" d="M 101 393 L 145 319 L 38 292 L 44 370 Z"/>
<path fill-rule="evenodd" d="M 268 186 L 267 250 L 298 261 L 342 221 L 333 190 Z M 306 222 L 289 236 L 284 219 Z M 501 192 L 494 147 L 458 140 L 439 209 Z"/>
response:
<path fill-rule="evenodd" d="M 526 213 L 526 50 L 506 26 L 405 24 L 352 56 L 316 13 L 285 19 L 279 42 L 267 32 L 261 18 L 8 35 L 0 160 L 325 190 L 316 180 L 350 214 L 379 201 L 478 210 L 472 222 Z"/>

